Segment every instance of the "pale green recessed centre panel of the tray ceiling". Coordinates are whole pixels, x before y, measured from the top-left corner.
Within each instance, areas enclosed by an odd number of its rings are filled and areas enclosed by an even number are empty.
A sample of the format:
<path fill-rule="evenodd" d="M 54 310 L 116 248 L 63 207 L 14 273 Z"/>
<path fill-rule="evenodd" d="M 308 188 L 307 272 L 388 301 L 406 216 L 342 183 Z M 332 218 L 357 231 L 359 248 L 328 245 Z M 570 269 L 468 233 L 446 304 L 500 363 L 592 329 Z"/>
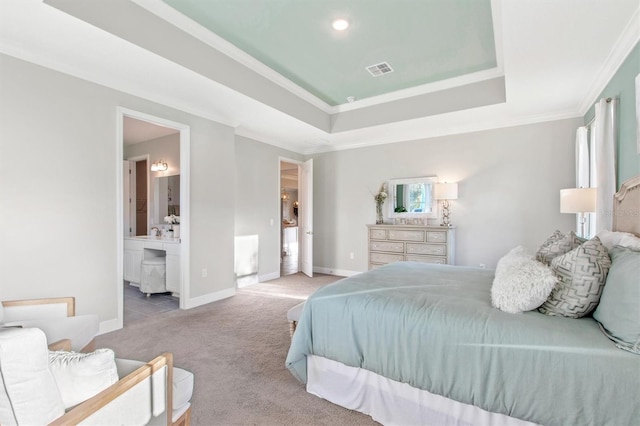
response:
<path fill-rule="evenodd" d="M 331 106 L 497 66 L 490 0 L 164 2 Z"/>

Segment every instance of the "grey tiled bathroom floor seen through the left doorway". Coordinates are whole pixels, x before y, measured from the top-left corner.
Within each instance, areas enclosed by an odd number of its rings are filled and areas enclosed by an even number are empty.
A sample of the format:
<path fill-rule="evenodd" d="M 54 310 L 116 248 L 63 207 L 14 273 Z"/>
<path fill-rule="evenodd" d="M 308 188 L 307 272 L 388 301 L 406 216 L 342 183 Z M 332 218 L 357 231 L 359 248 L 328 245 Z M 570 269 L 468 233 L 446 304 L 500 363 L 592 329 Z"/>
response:
<path fill-rule="evenodd" d="M 180 308 L 180 299 L 171 293 L 157 293 L 147 297 L 138 287 L 124 283 L 124 325 L 150 318 L 162 312 Z"/>

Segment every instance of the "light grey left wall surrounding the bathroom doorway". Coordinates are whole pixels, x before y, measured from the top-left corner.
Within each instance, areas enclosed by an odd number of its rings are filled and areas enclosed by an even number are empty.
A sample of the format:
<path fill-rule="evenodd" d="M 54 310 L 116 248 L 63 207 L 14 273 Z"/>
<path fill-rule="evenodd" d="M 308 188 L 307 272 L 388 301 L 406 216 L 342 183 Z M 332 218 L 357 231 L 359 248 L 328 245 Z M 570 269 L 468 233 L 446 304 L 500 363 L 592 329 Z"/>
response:
<path fill-rule="evenodd" d="M 234 291 L 232 128 L 5 55 L 0 72 L 2 300 L 75 296 L 116 318 L 118 106 L 190 126 L 191 297 Z"/>

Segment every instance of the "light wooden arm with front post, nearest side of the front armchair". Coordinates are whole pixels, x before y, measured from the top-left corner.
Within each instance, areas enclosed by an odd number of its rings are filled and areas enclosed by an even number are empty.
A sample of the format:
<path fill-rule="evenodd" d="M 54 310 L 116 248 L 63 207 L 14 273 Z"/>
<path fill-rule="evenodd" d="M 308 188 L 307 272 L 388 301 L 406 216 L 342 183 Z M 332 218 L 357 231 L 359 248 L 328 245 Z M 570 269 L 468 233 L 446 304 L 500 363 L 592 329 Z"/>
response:
<path fill-rule="evenodd" d="M 114 399 L 127 392 L 129 389 L 132 389 L 146 378 L 151 377 L 153 373 L 164 366 L 167 366 L 167 382 L 165 386 L 167 392 L 165 396 L 165 414 L 167 417 L 167 426 L 170 426 L 172 424 L 173 413 L 173 354 L 171 352 L 165 352 L 157 356 L 145 365 L 133 371 L 131 374 L 123 377 L 113 385 L 109 386 L 99 394 L 76 405 L 74 408 L 67 411 L 63 416 L 58 417 L 49 425 L 62 426 L 78 424 L 82 422 L 83 420 L 112 402 Z"/>

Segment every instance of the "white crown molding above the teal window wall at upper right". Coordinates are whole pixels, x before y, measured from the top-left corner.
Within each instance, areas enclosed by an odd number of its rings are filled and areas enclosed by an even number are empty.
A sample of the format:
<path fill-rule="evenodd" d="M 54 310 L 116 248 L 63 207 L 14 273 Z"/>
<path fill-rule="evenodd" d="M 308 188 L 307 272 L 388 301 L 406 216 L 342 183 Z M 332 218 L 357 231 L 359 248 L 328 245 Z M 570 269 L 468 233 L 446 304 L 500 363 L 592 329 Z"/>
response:
<path fill-rule="evenodd" d="M 640 41 L 640 6 L 638 6 L 634 14 L 631 16 L 629 23 L 613 45 L 613 49 L 611 49 L 609 55 L 607 55 L 607 59 L 604 61 L 604 64 L 598 72 L 591 88 L 586 92 L 582 102 L 580 103 L 578 110 L 581 115 L 584 116 L 593 104 L 595 104 L 598 96 L 600 96 L 607 87 L 607 84 L 609 84 L 638 41 Z"/>

